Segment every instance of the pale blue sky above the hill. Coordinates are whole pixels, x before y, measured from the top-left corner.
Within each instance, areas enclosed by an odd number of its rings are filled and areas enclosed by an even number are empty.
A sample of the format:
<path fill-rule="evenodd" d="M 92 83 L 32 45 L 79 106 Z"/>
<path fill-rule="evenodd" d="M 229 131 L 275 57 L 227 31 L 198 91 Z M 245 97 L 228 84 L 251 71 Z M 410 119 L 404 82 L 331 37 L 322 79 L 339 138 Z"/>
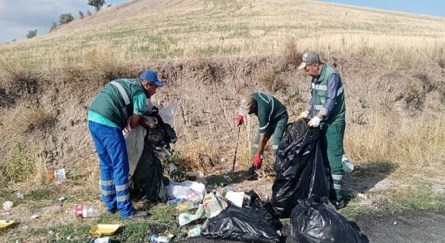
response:
<path fill-rule="evenodd" d="M 118 4 L 130 0 L 105 0 L 107 4 Z M 225 0 L 222 0 L 225 1 Z M 444 0 L 321 0 L 366 6 L 385 10 L 412 12 L 445 17 Z M 29 31 L 37 30 L 38 35 L 49 31 L 58 17 L 70 12 L 75 19 L 79 10 L 95 12 L 88 0 L 0 0 L 0 43 L 24 40 Z"/>

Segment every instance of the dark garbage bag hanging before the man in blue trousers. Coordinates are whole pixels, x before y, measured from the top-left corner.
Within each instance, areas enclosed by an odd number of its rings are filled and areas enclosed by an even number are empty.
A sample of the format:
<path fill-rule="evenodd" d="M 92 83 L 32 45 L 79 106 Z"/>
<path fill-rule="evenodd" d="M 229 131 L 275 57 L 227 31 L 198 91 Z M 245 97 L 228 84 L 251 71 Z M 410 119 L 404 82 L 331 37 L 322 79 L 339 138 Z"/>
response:
<path fill-rule="evenodd" d="M 131 178 L 133 187 L 130 194 L 136 200 L 162 202 L 165 201 L 165 186 L 169 180 L 163 176 L 162 162 L 154 146 L 149 142 L 150 134 L 152 133 L 147 133 L 145 136 L 144 149 Z"/>

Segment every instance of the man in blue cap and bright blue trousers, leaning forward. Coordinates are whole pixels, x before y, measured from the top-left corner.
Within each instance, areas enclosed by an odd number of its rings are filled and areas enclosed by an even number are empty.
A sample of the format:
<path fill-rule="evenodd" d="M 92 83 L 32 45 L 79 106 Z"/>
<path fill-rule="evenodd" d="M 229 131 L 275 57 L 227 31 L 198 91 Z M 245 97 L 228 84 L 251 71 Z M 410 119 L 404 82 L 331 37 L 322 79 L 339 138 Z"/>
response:
<path fill-rule="evenodd" d="M 129 161 L 122 130 L 145 125 L 147 99 L 163 87 L 153 70 L 139 78 L 115 79 L 96 95 L 88 109 L 88 128 L 99 156 L 100 188 L 108 212 L 119 211 L 121 218 L 145 217 L 136 211 L 129 194 Z"/>

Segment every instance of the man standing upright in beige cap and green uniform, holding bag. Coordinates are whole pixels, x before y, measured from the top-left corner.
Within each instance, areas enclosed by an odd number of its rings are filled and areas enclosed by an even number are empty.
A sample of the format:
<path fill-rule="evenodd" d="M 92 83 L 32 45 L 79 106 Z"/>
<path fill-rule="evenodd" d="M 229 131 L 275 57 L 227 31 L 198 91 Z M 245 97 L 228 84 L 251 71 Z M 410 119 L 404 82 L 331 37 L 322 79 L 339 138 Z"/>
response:
<path fill-rule="evenodd" d="M 305 69 L 306 74 L 312 77 L 312 99 L 297 119 L 312 115 L 309 126 L 321 128 L 323 160 L 329 162 L 330 167 L 330 200 L 337 209 L 344 208 L 345 203 L 341 196 L 341 157 L 344 153 L 346 106 L 341 77 L 337 69 L 321 62 L 314 51 L 304 53 L 298 69 Z"/>

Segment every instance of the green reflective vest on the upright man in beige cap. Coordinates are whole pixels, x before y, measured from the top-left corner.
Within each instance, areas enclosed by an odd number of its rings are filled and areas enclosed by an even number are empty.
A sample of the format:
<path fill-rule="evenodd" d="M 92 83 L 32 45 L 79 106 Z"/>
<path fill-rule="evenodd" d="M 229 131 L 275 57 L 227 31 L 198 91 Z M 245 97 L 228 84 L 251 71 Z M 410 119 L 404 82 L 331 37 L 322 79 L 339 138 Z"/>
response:
<path fill-rule="evenodd" d="M 318 112 L 325 106 L 327 100 L 327 81 L 331 74 L 337 74 L 339 76 L 339 85 L 337 87 L 337 98 L 335 100 L 335 106 L 330 114 L 321 121 L 320 126 L 326 124 L 330 126 L 332 124 L 341 124 L 345 122 L 346 105 L 345 95 L 343 92 L 343 84 L 337 69 L 330 65 L 323 64 L 321 74 L 318 78 L 312 78 L 312 115 L 316 116 Z"/>

